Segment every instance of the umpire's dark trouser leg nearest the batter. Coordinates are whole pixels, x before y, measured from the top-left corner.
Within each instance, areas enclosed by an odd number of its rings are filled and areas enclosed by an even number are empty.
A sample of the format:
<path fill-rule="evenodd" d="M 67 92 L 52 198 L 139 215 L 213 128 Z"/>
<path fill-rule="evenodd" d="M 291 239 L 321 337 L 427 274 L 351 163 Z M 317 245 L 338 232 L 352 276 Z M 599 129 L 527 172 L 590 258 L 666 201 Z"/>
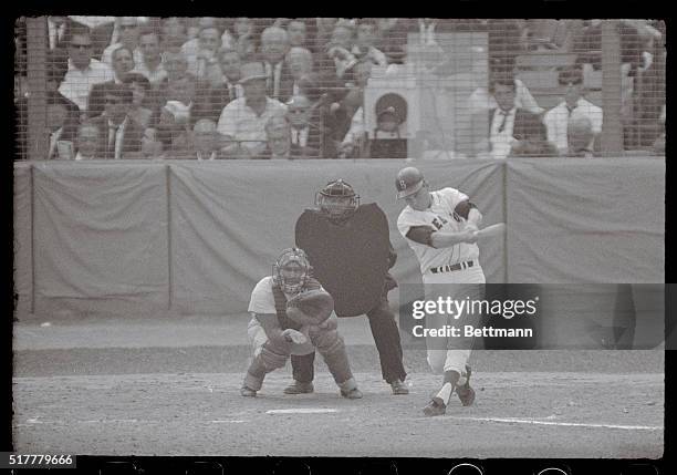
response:
<path fill-rule="evenodd" d="M 402 361 L 402 341 L 395 321 L 395 314 L 388 306 L 388 299 L 383 296 L 381 302 L 367 312 L 369 327 L 378 350 L 381 374 L 387 383 L 395 380 L 404 381 L 407 372 Z"/>

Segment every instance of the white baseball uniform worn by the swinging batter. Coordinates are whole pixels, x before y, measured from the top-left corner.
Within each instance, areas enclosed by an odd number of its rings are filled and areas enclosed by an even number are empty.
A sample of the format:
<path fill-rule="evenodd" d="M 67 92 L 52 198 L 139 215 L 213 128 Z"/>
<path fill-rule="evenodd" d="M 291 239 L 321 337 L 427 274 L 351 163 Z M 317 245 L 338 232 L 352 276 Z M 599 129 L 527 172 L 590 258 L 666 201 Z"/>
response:
<path fill-rule="evenodd" d="M 466 219 L 459 216 L 455 208 L 468 196 L 455 188 L 442 188 L 430 192 L 431 204 L 428 209 L 418 211 L 406 206 L 397 218 L 397 229 L 405 237 L 409 247 L 416 254 L 420 264 L 420 272 L 427 300 L 437 300 L 438 297 L 465 299 L 469 297 L 481 298 L 482 286 L 486 282 L 485 273 L 479 264 L 479 248 L 476 244 L 460 242 L 451 247 L 436 249 L 426 244 L 417 242 L 407 237 L 413 227 L 430 227 L 434 231 L 459 233 L 466 226 Z M 451 267 L 460 267 L 454 270 Z M 465 286 L 458 286 L 464 283 Z M 449 285 L 445 287 L 444 285 Z M 470 286 L 468 286 L 470 285 Z M 454 320 L 450 316 L 428 314 L 427 328 L 441 328 L 444 324 L 458 324 L 464 316 Z M 441 337 L 426 339 L 428 348 L 428 364 L 435 373 L 457 371 L 464 373 L 470 357 L 468 341 L 464 349 L 452 349 L 458 339 L 440 341 Z M 454 342 L 452 340 L 457 340 Z M 442 348 L 444 347 L 444 348 Z"/>

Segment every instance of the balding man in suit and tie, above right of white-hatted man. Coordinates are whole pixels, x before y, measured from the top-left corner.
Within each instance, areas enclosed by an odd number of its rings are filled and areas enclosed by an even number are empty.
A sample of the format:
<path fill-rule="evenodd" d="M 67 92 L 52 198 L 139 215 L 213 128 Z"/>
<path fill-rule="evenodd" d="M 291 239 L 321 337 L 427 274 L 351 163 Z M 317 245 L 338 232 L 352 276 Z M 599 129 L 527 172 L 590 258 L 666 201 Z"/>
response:
<path fill-rule="evenodd" d="M 289 52 L 287 31 L 270 27 L 261 34 L 261 56 L 264 61 L 268 96 L 288 101 L 292 95 L 293 78 L 284 56 Z"/>

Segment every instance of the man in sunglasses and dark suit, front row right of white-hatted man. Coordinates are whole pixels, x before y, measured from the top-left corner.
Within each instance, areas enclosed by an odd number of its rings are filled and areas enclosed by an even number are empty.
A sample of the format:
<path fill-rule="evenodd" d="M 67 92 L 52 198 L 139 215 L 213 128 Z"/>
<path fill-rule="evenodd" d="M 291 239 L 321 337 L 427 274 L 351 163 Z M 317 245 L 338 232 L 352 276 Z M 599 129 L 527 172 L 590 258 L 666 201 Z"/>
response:
<path fill-rule="evenodd" d="M 303 95 L 294 95 L 287 103 L 291 144 L 299 154 L 317 158 L 322 148 L 323 130 L 313 103 Z"/>

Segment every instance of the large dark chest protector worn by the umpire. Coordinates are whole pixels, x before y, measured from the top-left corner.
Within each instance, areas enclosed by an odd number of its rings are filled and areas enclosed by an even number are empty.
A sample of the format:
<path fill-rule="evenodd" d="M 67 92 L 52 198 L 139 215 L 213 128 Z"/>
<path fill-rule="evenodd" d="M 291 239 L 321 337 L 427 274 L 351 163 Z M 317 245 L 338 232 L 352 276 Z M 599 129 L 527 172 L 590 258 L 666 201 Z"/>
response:
<path fill-rule="evenodd" d="M 388 271 L 389 230 L 378 205 L 360 206 L 343 225 L 306 209 L 296 221 L 295 237 L 313 266 L 313 277 L 332 295 L 336 316 L 361 316 L 379 303 Z"/>

